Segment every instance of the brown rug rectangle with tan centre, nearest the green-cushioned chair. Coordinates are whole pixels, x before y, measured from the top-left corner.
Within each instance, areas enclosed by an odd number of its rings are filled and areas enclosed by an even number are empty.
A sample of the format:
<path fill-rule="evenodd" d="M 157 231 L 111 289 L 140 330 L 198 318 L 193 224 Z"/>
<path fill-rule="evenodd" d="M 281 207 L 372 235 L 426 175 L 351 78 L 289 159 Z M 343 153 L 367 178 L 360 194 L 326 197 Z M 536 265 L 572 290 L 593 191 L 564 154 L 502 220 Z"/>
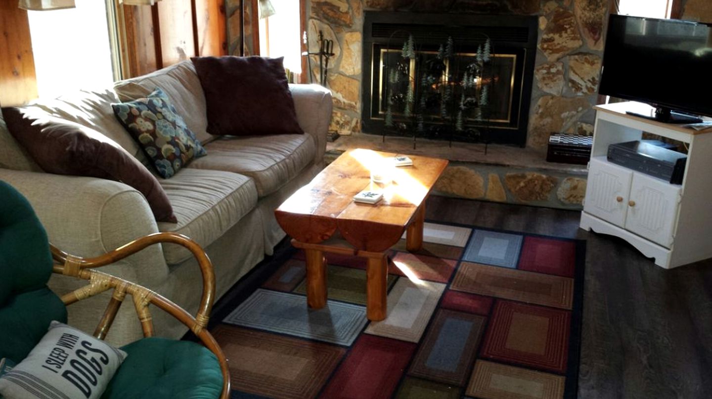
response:
<path fill-rule="evenodd" d="M 221 324 L 212 331 L 229 362 L 235 398 L 314 398 L 345 348 Z"/>

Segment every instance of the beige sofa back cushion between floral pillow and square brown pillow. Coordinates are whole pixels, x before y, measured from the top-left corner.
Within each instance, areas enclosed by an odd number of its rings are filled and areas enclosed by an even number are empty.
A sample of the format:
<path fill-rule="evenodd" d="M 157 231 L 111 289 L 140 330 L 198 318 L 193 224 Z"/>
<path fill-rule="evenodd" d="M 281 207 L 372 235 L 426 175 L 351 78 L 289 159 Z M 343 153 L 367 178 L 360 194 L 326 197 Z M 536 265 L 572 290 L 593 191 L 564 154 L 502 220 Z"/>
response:
<path fill-rule="evenodd" d="M 206 143 L 212 139 L 213 136 L 206 131 L 208 120 L 205 96 L 191 61 L 182 61 L 148 75 L 119 81 L 115 83 L 114 90 L 122 101 L 130 101 L 149 95 L 157 87 L 171 99 L 200 142 Z"/>

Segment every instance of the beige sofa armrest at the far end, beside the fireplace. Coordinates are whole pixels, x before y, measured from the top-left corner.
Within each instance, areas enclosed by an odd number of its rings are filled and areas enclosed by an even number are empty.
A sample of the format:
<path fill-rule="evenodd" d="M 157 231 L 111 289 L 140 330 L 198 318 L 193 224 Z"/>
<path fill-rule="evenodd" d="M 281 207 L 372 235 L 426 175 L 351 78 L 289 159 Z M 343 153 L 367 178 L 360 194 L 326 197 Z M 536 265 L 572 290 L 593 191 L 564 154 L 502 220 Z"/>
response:
<path fill-rule="evenodd" d="M 314 137 L 316 142 L 315 165 L 323 165 L 326 152 L 326 135 L 331 123 L 333 107 L 331 91 L 319 85 L 290 84 L 294 108 L 300 127 Z"/>

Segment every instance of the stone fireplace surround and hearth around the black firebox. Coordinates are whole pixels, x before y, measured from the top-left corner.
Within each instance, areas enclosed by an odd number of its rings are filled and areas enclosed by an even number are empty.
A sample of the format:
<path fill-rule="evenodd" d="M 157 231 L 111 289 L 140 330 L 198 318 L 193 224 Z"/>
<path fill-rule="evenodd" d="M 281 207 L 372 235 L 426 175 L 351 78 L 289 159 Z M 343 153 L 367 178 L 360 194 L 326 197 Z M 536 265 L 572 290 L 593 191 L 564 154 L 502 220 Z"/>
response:
<path fill-rule="evenodd" d="M 373 46 L 364 46 L 372 33 L 365 24 L 367 11 L 405 14 L 412 20 L 428 16 L 446 26 L 455 19 L 480 19 L 486 25 L 492 16 L 535 19 L 535 34 L 530 35 L 535 41 L 529 58 L 533 61 L 531 90 L 521 96 L 518 120 L 525 136 L 509 141 L 522 145 L 525 140 L 525 148 L 486 146 L 462 142 L 466 140 L 461 138 L 451 146 L 418 139 L 416 148 L 412 138 L 382 140 L 379 135 L 366 134 L 379 133 L 374 131 L 375 121 L 368 118 L 381 111 L 372 97 L 364 96 L 374 83 L 374 63 L 365 63 L 362 57 Z M 350 135 L 330 144 L 332 155 L 357 146 L 446 157 L 450 166 L 435 187 L 440 194 L 580 209 L 586 190 L 585 166 L 545 162 L 545 148 L 554 132 L 592 134 L 592 105 L 597 103 L 608 11 L 609 0 L 308 0 L 308 36 L 316 38 L 318 31 L 323 31 L 325 38 L 334 42 L 335 56 L 330 60 L 327 80 L 334 100 L 330 130 Z M 403 38 L 398 41 L 402 46 Z M 310 42 L 310 51 L 318 51 L 315 41 Z M 498 52 L 496 46 L 492 52 Z M 318 81 L 316 58 L 312 59 L 312 74 Z"/>

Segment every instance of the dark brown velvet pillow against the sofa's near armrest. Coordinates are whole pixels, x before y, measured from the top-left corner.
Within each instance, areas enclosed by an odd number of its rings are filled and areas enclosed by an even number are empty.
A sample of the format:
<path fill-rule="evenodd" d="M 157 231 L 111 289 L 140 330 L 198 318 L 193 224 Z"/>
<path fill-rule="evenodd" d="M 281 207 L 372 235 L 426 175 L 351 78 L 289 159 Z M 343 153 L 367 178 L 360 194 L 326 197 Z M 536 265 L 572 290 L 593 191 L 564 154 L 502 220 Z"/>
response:
<path fill-rule="evenodd" d="M 27 108 L 3 108 L 10 134 L 45 171 L 124 182 L 147 199 L 159 222 L 177 222 L 168 197 L 141 162 L 96 130 L 41 115 Z"/>

